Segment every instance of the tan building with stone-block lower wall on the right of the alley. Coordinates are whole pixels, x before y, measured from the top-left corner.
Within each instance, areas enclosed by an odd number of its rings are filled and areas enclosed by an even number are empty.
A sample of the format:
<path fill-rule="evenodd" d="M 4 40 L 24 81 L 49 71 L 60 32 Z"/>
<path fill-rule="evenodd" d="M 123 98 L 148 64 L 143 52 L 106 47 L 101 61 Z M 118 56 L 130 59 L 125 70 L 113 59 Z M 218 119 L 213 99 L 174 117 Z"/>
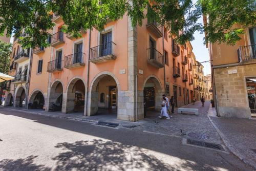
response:
<path fill-rule="evenodd" d="M 234 25 L 234 28 L 242 28 Z M 213 96 L 217 113 L 251 118 L 256 112 L 256 27 L 244 29 L 236 45 L 209 44 Z"/>

